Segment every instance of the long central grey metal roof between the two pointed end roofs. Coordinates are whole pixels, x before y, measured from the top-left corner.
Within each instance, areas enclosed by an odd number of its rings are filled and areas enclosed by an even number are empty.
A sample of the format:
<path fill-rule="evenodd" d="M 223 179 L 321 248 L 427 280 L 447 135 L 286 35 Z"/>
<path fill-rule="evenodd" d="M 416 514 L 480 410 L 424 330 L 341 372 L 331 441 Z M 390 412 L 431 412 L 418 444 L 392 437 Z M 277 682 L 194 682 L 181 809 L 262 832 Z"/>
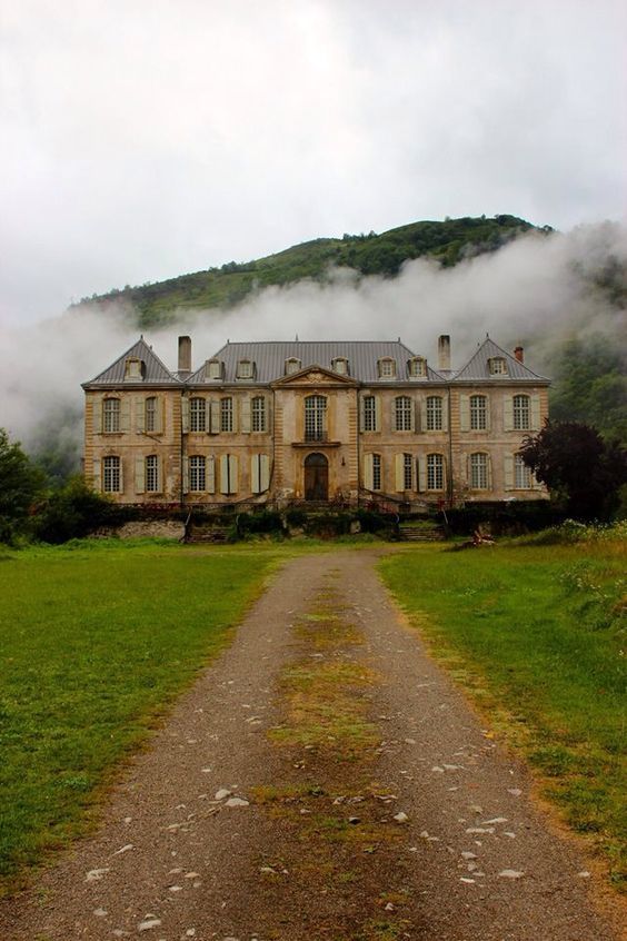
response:
<path fill-rule="evenodd" d="M 348 375 L 360 383 L 372 385 L 380 383 L 407 383 L 409 380 L 407 363 L 415 354 L 399 340 L 293 340 L 266 343 L 228 343 L 219 349 L 211 359 L 225 364 L 225 375 L 221 383 L 250 384 L 250 379 L 237 379 L 237 367 L 240 359 L 255 363 L 256 374 L 252 382 L 266 385 L 280 379 L 286 374 L 286 359 L 295 358 L 301 363 L 301 368 L 321 366 L 331 368 L 331 361 L 338 357 L 348 359 Z M 391 358 L 396 363 L 396 377 L 381 378 L 378 375 L 377 360 Z M 427 364 L 427 376 L 424 379 L 411 379 L 412 384 L 420 382 L 440 382 L 441 376 Z M 190 385 L 217 385 L 216 379 L 205 378 L 205 364 L 188 379 Z"/>

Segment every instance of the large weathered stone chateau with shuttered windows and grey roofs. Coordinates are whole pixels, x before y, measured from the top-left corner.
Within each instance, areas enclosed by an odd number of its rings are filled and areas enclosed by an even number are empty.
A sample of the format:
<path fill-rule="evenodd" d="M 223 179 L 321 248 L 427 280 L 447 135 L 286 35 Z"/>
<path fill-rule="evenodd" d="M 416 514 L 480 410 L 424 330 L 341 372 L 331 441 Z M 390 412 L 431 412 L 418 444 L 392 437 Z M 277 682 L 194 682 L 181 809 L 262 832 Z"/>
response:
<path fill-rule="evenodd" d="M 522 438 L 549 380 L 491 339 L 451 368 L 398 341 L 227 343 L 170 372 L 141 337 L 83 384 L 84 474 L 119 503 L 429 504 L 544 498 Z"/>

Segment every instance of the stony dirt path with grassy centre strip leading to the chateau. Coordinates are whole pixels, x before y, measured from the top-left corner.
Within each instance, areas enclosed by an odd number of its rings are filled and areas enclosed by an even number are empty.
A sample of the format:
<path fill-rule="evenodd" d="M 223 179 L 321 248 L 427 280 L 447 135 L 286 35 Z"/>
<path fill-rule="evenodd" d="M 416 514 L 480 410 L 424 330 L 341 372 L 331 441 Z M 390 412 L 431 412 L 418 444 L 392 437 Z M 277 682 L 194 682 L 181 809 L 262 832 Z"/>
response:
<path fill-rule="evenodd" d="M 610 941 L 374 573 L 290 562 L 2 941 Z"/>

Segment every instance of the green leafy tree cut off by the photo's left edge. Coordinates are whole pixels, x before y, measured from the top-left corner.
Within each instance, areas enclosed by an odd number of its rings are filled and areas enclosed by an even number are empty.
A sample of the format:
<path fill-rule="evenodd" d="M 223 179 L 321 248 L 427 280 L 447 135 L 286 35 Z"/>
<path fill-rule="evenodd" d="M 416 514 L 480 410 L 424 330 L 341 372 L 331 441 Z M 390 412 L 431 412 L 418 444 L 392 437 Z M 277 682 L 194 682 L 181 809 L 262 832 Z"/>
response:
<path fill-rule="evenodd" d="M 22 528 L 43 484 L 43 473 L 30 463 L 19 442 L 11 444 L 0 428 L 0 542 L 11 542 Z"/>

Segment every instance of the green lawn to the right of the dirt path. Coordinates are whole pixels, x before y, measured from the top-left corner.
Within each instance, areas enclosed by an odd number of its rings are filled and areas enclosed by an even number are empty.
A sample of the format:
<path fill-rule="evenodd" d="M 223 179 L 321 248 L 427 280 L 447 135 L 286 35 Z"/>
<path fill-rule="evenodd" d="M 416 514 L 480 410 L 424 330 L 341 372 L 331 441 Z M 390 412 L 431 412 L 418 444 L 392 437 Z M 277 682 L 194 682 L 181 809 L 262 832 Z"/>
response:
<path fill-rule="evenodd" d="M 411 621 L 625 876 L 625 542 L 385 558 Z M 621 862 L 623 860 L 623 862 Z"/>

